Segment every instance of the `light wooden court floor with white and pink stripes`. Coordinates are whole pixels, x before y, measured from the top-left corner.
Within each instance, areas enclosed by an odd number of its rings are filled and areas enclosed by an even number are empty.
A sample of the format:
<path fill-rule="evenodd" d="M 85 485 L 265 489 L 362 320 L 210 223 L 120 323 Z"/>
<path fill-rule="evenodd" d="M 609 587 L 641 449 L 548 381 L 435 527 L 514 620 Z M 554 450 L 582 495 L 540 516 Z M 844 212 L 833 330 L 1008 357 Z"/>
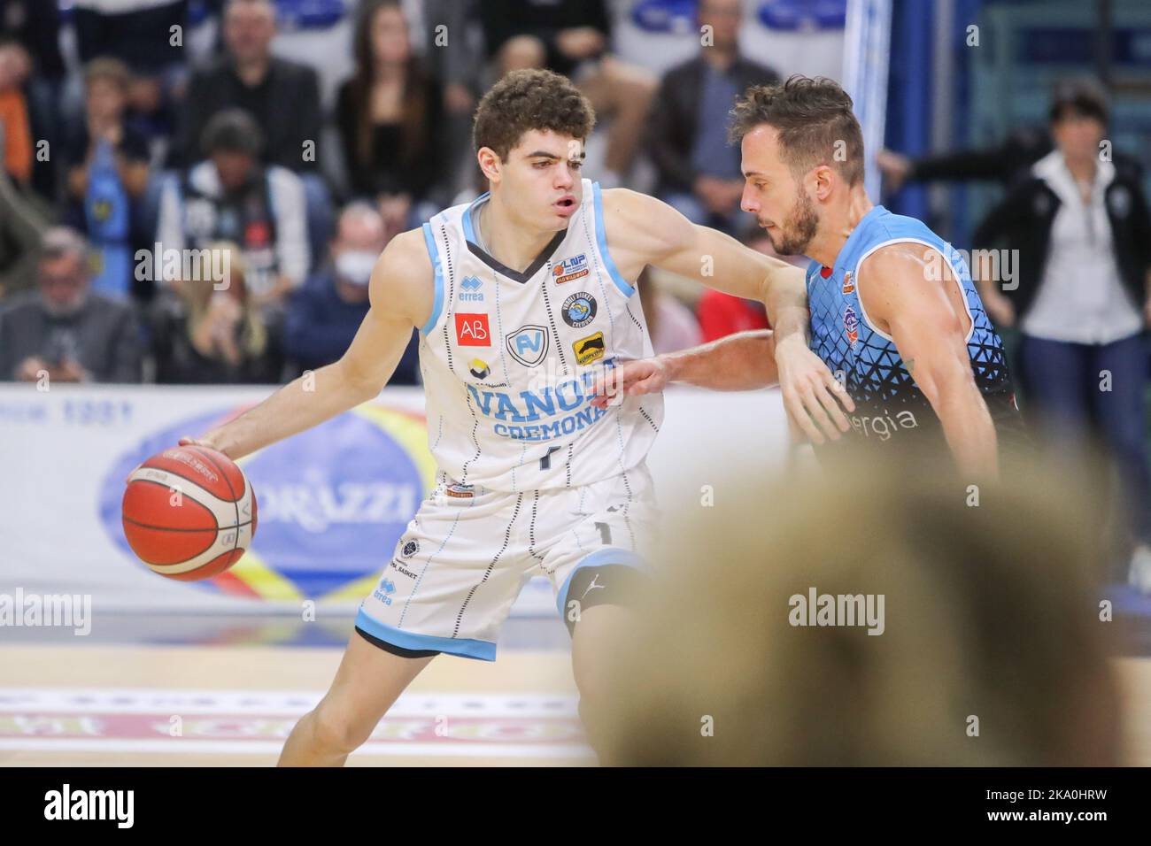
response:
<path fill-rule="evenodd" d="M 0 765 L 273 764 L 336 648 L 0 646 Z M 1151 658 L 1118 658 L 1127 763 L 1151 765 Z M 439 657 L 349 765 L 594 765 L 564 650 Z"/>

